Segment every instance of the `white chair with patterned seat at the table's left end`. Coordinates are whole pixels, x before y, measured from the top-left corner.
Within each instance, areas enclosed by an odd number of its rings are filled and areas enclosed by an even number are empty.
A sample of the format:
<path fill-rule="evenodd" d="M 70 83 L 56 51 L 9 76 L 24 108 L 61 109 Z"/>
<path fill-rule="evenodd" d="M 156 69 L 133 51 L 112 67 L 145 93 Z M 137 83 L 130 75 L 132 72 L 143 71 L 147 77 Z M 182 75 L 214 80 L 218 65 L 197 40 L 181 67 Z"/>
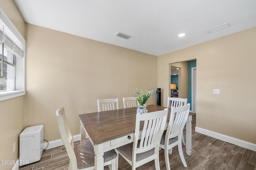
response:
<path fill-rule="evenodd" d="M 94 147 L 86 141 L 74 147 L 74 139 L 67 125 L 64 107 L 56 111 L 61 139 L 70 158 L 68 170 L 94 170 Z M 112 170 L 118 169 L 118 154 L 115 150 L 104 152 L 104 166 L 111 165 Z"/>

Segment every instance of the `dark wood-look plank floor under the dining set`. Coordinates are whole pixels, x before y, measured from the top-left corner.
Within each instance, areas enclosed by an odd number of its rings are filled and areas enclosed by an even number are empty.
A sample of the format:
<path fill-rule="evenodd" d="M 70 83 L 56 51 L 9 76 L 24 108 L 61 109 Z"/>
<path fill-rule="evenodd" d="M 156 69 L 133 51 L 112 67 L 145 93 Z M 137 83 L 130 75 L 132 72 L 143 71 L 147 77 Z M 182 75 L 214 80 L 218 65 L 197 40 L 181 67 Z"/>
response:
<path fill-rule="evenodd" d="M 188 156 L 183 147 L 188 168 L 183 166 L 176 146 L 172 154 L 169 154 L 172 170 L 256 170 L 256 152 L 195 132 L 196 115 L 192 117 L 192 154 Z M 184 136 L 185 133 L 186 131 Z M 68 154 L 62 146 L 44 151 L 40 161 L 22 166 L 20 170 L 68 170 L 68 164 Z M 108 170 L 108 167 L 104 169 Z M 131 169 L 120 155 L 118 169 Z M 137 168 L 137 170 L 154 169 L 154 161 Z M 160 169 L 166 170 L 163 149 L 160 150 Z"/>

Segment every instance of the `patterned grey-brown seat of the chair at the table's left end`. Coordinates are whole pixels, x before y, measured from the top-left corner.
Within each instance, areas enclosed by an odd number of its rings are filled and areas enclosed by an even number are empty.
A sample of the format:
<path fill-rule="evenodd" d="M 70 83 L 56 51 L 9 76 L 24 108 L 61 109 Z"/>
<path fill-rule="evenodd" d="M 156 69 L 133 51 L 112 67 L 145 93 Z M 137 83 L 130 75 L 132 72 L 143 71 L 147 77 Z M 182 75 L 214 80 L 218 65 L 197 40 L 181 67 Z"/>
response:
<path fill-rule="evenodd" d="M 94 149 L 90 141 L 86 141 L 81 145 L 74 148 L 77 160 L 77 168 L 83 169 L 94 166 Z M 104 162 L 108 162 L 117 157 L 114 150 L 104 152 L 103 158 Z"/>

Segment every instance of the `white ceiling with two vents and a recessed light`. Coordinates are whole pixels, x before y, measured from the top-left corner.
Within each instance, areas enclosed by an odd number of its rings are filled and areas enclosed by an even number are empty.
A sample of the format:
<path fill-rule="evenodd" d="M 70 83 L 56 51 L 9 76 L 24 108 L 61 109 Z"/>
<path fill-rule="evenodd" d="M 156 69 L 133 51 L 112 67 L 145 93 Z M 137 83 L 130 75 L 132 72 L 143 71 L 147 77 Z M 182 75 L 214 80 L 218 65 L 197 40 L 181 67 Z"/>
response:
<path fill-rule="evenodd" d="M 256 27 L 256 0 L 14 2 L 26 23 L 156 56 Z M 231 27 L 206 32 L 228 22 Z M 115 36 L 119 31 L 132 37 Z"/>

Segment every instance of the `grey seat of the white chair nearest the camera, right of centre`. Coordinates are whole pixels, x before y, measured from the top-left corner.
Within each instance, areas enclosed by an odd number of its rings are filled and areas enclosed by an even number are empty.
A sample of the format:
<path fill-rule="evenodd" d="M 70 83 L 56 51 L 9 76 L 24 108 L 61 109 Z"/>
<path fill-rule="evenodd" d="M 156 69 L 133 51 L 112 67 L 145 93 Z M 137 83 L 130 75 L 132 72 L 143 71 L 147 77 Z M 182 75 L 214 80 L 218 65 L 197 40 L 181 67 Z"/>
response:
<path fill-rule="evenodd" d="M 139 147 L 139 146 L 140 146 L 140 140 L 138 141 L 137 147 Z M 120 154 L 122 154 L 128 160 L 132 161 L 132 147 L 133 147 L 133 143 L 128 143 L 127 145 L 117 148 L 117 150 Z M 136 161 L 145 159 L 148 156 L 153 155 L 154 152 L 155 152 L 155 149 L 153 148 L 146 152 L 138 153 L 138 154 L 136 154 Z"/>

